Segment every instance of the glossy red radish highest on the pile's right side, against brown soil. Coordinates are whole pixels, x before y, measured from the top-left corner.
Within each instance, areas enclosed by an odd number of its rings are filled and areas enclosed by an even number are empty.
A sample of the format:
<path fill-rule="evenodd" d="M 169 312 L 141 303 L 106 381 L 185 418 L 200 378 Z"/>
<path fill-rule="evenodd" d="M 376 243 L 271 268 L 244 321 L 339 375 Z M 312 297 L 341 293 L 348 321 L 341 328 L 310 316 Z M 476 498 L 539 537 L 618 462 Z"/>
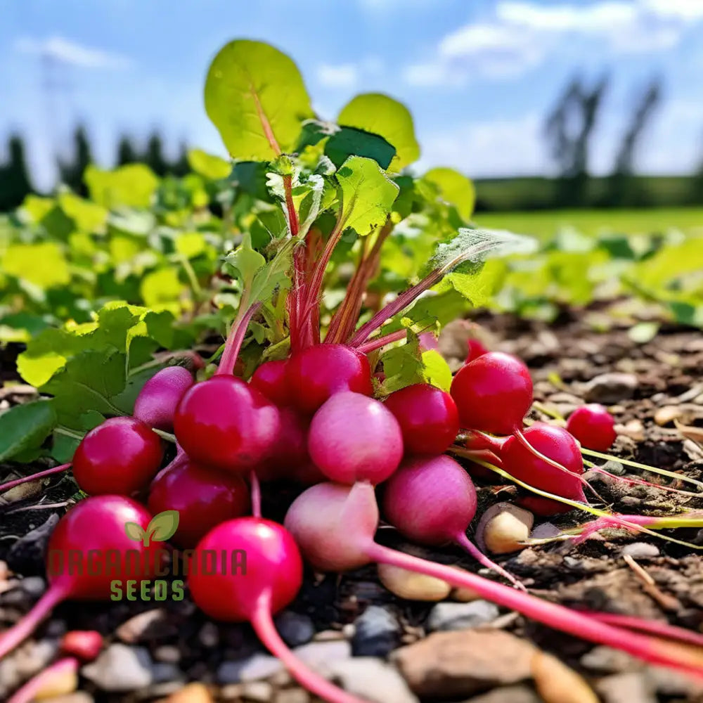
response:
<path fill-rule="evenodd" d="M 517 356 L 487 352 L 458 370 L 450 393 L 465 429 L 512 434 L 532 404 L 532 379 Z"/>

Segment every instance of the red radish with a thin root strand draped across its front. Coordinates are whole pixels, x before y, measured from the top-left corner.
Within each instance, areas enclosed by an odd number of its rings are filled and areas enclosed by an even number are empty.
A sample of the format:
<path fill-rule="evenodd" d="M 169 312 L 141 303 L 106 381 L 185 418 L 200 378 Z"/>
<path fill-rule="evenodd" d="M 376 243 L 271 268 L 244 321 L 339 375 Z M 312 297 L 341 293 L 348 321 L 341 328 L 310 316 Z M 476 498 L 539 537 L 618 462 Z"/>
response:
<path fill-rule="evenodd" d="M 580 479 L 583 474 L 583 458 L 574 437 L 562 427 L 547 423 L 534 423 L 527 427 L 524 437 L 537 451 L 566 467 L 574 475 L 573 479 L 569 477 L 569 473 L 560 471 L 535 456 L 517 437 L 508 437 L 501 448 L 500 457 L 505 471 L 547 493 L 586 503 Z M 553 512 L 572 509 L 568 505 L 541 496 L 527 496 L 522 504 L 538 515 L 552 515 Z M 550 512 L 546 512 L 547 510 Z"/>

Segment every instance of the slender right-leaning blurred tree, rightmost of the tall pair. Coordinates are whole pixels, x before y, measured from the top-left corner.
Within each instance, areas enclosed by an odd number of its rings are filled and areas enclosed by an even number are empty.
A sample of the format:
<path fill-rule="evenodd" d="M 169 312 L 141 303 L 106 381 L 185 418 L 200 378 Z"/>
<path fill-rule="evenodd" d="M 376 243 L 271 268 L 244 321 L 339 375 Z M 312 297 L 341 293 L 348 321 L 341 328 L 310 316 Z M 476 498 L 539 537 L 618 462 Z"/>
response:
<path fill-rule="evenodd" d="M 655 108 L 662 100 L 662 81 L 654 78 L 640 95 L 635 104 L 630 124 L 622 138 L 620 148 L 615 157 L 615 166 L 610 176 L 609 191 L 606 205 L 641 205 L 638 202 L 636 179 L 634 178 L 634 157 L 647 123 L 652 118 Z"/>

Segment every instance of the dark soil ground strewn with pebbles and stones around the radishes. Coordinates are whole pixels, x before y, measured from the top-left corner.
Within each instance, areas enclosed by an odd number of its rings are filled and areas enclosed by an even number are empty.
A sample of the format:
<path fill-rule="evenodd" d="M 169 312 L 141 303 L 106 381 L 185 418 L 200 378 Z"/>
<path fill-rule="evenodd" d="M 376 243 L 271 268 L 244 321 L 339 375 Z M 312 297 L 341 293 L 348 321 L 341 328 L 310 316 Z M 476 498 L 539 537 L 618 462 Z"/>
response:
<path fill-rule="evenodd" d="M 594 309 L 578 317 L 565 313 L 551 325 L 508 316 L 479 322 L 495 348 L 527 361 L 543 406 L 567 414 L 584 400 L 607 404 L 619 423 L 618 456 L 701 478 L 703 337 L 664 326 L 643 342 L 642 329 L 633 333 L 628 318 L 595 332 L 605 317 L 613 319 Z M 456 323 L 441 340 L 455 365 L 465 354 L 466 335 L 465 325 Z M 21 389 L 0 392 L 0 404 L 23 399 Z M 535 411 L 532 419 L 545 416 Z M 609 468 L 624 472 L 619 464 Z M 0 478 L 11 472 L 0 466 Z M 695 497 L 592 479 L 619 512 L 665 515 L 703 507 Z M 18 619 L 44 591 L 41 548 L 63 508 L 42 505 L 66 501 L 74 486 L 53 478 L 33 490 L 5 496 L 0 505 L 0 626 Z M 291 490 L 280 486 L 264 512 L 280 517 Z M 480 505 L 513 493 L 512 486 L 481 486 Z M 579 518 L 573 512 L 538 518 L 535 529 L 548 536 Z M 703 543 L 694 529 L 675 534 Z M 380 538 L 409 548 L 390 529 Z M 425 554 L 478 570 L 453 548 Z M 498 558 L 542 598 L 703 629 L 703 561 L 694 548 L 612 530 L 580 546 L 552 543 Z M 555 633 L 471 594 L 453 593 L 441 602 L 401 599 L 381 585 L 373 567 L 342 577 L 309 574 L 277 624 L 302 659 L 378 703 L 703 702 L 703 685 Z M 0 699 L 43 669 L 56 656 L 61 634 L 77 628 L 98 630 L 105 647 L 80 670 L 77 690 L 69 683 L 53 703 L 314 700 L 262 650 L 250 628 L 208 621 L 188 598 L 58 607 L 34 639 L 0 662 Z"/>

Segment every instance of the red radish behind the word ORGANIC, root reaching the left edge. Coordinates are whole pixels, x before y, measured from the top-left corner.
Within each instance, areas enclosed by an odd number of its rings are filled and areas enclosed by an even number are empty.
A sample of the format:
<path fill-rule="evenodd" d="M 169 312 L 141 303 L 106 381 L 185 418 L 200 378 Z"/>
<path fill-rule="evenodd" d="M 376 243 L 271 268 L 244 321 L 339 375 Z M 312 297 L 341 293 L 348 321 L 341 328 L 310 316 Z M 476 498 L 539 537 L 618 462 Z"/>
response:
<path fill-rule="evenodd" d="M 127 536 L 125 524 L 146 532 L 151 514 L 124 496 L 80 501 L 56 524 L 46 548 L 49 590 L 18 624 L 0 635 L 0 658 L 29 636 L 62 600 L 110 600 L 113 581 L 149 579 L 160 564 L 159 542 L 143 546 Z"/>

